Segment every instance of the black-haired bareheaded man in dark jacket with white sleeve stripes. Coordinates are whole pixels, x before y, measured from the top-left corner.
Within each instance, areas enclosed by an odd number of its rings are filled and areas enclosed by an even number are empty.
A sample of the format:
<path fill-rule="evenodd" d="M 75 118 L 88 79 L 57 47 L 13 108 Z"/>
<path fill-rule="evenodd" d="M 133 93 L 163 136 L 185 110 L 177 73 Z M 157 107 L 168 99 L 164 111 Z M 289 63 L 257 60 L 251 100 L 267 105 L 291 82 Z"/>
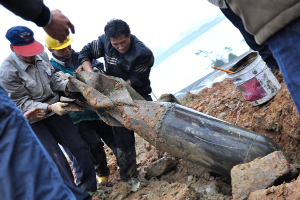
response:
<path fill-rule="evenodd" d="M 128 24 L 120 19 L 108 21 L 104 32 L 80 51 L 78 60 L 84 71 L 92 71 L 92 59 L 104 57 L 106 75 L 122 78 L 145 100 L 152 101 L 149 95 L 149 74 L 154 63 L 151 50 L 132 35 Z M 137 175 L 134 132 L 124 127 L 112 127 L 112 130 L 121 180 L 129 180 Z"/>

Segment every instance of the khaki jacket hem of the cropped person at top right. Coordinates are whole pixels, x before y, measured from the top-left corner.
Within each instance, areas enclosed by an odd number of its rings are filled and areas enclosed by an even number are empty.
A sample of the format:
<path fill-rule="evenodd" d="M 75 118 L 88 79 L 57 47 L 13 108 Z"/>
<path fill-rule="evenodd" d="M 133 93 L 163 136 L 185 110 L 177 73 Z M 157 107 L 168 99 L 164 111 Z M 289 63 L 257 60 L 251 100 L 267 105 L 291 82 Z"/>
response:
<path fill-rule="evenodd" d="M 245 29 L 262 44 L 271 35 L 300 17 L 300 0 L 226 0 Z"/>

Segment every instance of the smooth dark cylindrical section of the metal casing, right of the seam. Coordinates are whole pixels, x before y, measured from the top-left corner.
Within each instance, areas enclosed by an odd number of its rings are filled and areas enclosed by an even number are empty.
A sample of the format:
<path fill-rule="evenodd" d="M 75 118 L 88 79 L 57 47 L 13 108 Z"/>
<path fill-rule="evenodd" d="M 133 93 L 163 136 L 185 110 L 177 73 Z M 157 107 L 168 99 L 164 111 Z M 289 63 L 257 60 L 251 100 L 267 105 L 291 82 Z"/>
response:
<path fill-rule="evenodd" d="M 180 105 L 164 116 L 157 137 L 157 149 L 225 176 L 235 165 L 284 153 L 267 137 Z"/>

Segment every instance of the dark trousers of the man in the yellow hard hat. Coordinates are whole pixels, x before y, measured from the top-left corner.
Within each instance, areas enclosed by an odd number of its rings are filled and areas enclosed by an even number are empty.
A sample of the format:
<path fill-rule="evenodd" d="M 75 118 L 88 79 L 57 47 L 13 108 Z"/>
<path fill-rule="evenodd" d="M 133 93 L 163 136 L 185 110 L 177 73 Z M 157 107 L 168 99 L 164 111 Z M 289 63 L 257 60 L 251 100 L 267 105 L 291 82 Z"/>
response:
<path fill-rule="evenodd" d="M 92 120 L 81 121 L 75 124 L 75 127 L 88 147 L 96 175 L 98 177 L 109 176 L 110 172 L 107 167 L 106 154 L 103 146 L 105 143 L 112 150 L 113 154 L 117 155 L 111 126 L 108 126 L 102 120 Z"/>

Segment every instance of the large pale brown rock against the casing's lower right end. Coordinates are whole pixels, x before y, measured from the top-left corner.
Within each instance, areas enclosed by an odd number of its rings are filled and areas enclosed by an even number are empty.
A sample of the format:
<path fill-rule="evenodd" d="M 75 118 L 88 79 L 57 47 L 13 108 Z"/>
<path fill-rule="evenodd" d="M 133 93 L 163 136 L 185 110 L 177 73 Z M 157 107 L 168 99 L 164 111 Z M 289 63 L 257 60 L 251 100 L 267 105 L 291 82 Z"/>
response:
<path fill-rule="evenodd" d="M 233 199 L 245 200 L 251 192 L 290 181 L 297 176 L 294 170 L 281 151 L 234 166 L 230 173 Z"/>

